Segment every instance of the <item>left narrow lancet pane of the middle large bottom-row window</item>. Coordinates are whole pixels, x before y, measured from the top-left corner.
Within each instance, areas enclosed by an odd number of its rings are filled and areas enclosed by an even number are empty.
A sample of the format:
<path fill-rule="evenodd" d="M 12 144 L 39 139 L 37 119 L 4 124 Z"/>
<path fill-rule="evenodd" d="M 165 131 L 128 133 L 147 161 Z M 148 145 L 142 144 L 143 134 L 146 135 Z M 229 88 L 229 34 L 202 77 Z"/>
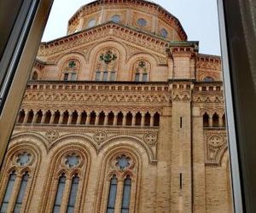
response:
<path fill-rule="evenodd" d="M 63 197 L 65 185 L 66 185 L 66 179 L 67 178 L 65 173 L 62 173 L 61 176 L 59 177 L 58 187 L 55 193 L 55 204 L 52 211 L 53 213 L 58 213 L 61 210 L 61 201 L 62 201 L 62 197 Z"/>

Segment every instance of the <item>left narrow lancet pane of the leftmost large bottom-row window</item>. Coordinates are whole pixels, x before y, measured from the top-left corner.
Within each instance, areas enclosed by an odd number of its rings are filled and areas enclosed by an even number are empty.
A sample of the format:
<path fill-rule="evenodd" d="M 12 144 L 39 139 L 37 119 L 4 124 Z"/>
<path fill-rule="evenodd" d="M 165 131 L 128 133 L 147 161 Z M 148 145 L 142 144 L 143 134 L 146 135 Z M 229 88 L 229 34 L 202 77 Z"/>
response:
<path fill-rule="evenodd" d="M 0 212 L 7 212 L 9 200 L 11 198 L 11 195 L 13 193 L 13 188 L 15 186 L 15 180 L 16 180 L 16 174 L 14 170 L 12 174 L 9 175 L 9 180 L 3 196 L 3 202 L 1 204 Z"/>

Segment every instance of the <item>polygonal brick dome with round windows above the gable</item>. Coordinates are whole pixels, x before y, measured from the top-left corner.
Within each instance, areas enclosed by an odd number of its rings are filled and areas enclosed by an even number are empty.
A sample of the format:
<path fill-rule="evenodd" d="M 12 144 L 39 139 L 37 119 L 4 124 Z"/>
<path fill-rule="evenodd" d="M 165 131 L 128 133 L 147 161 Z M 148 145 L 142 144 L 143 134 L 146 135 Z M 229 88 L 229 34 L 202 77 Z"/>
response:
<path fill-rule="evenodd" d="M 67 34 L 113 21 L 172 41 L 186 41 L 179 20 L 154 1 L 99 0 L 82 6 L 68 22 Z"/>

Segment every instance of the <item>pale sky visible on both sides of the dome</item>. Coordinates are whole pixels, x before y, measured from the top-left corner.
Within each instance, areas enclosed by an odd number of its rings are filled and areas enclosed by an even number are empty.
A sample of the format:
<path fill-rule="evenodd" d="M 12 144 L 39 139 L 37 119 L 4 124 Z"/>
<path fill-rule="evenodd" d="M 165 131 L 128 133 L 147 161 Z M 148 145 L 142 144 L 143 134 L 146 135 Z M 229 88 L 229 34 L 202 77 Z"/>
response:
<path fill-rule="evenodd" d="M 65 36 L 67 21 L 89 0 L 55 0 L 49 15 L 43 41 Z M 154 0 L 175 15 L 189 41 L 200 41 L 200 52 L 203 54 L 220 55 L 218 37 L 217 0 Z"/>

